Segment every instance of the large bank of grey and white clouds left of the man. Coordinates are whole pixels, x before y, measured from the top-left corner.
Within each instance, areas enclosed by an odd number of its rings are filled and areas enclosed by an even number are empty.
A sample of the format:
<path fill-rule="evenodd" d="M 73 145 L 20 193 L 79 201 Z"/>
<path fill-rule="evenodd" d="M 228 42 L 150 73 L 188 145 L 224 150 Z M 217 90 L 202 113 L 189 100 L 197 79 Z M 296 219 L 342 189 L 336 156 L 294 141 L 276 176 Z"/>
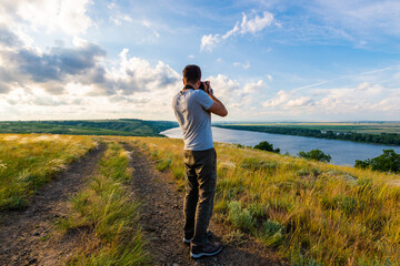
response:
<path fill-rule="evenodd" d="M 170 101 L 181 89 L 179 73 L 162 61 L 151 64 L 129 58 L 128 50 L 104 64 L 106 51 L 78 37 L 92 23 L 83 10 L 88 1 L 36 3 L 0 6 L 0 21 L 9 22 L 0 27 L 0 120 L 173 119 Z M 121 16 L 120 20 L 132 19 Z M 152 27 L 149 21 L 143 25 Z M 32 30 L 72 34 L 73 45 L 40 49 L 28 34 Z"/>

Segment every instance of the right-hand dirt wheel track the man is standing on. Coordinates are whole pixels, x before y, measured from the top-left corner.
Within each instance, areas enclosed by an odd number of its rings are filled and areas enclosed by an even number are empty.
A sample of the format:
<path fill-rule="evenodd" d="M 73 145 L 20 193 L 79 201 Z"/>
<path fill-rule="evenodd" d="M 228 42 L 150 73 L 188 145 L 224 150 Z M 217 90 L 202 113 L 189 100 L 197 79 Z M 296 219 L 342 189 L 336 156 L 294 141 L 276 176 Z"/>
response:
<path fill-rule="evenodd" d="M 189 248 L 182 243 L 183 193 L 177 191 L 169 174 L 158 172 L 154 163 L 136 147 L 126 145 L 126 150 L 132 152 L 132 191 L 142 201 L 140 223 L 156 265 L 287 265 L 252 238 L 239 246 L 226 246 L 218 256 L 191 259 Z M 212 221 L 210 227 L 217 241 L 228 234 L 227 228 Z"/>

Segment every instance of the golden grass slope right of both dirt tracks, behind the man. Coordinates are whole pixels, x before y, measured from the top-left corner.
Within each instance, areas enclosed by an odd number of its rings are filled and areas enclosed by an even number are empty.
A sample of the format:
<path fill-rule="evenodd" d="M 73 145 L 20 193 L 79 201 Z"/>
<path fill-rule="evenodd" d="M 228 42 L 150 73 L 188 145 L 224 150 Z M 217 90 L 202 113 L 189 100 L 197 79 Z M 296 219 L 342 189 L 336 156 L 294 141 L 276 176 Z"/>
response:
<path fill-rule="evenodd" d="M 182 141 L 127 139 L 183 187 Z M 216 218 L 292 265 L 399 265 L 400 176 L 218 144 Z"/>

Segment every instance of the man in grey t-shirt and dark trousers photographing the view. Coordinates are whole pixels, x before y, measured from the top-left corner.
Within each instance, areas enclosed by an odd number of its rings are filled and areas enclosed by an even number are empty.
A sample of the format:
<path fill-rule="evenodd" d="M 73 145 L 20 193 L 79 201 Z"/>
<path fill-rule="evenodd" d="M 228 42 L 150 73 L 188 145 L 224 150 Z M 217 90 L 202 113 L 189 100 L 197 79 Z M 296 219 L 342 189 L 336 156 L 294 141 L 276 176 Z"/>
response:
<path fill-rule="evenodd" d="M 210 242 L 208 229 L 212 215 L 217 184 L 217 154 L 213 149 L 211 113 L 228 114 L 224 105 L 213 95 L 210 82 L 201 82 L 198 65 L 183 71 L 183 90 L 172 101 L 172 108 L 182 130 L 184 166 L 188 176 L 184 196 L 184 237 L 191 244 L 190 256 L 200 258 L 221 252 L 220 243 Z M 202 88 L 199 89 L 199 86 Z"/>

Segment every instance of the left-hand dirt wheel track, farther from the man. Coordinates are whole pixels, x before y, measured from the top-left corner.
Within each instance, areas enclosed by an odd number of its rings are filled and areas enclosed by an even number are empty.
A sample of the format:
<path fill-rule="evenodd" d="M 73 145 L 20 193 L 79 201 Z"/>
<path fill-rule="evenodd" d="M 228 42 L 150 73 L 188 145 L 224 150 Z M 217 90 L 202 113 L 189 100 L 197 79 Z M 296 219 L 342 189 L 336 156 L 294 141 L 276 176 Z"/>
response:
<path fill-rule="evenodd" d="M 94 173 L 104 150 L 106 145 L 100 144 L 73 162 L 39 190 L 27 209 L 0 212 L 0 265 L 62 264 L 76 244 L 71 236 L 54 239 L 53 221 L 68 214 L 66 202 Z"/>

